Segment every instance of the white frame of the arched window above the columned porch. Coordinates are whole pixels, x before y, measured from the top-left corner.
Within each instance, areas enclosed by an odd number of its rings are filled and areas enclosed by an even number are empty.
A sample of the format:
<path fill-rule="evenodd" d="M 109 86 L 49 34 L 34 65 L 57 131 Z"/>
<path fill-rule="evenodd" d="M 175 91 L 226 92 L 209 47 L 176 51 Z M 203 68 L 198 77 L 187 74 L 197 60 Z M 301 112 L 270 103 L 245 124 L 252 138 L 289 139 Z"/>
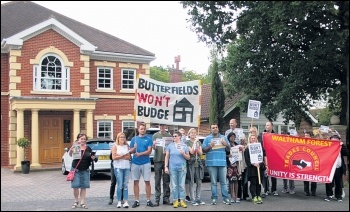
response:
<path fill-rule="evenodd" d="M 42 62 L 45 58 L 47 57 L 56 57 L 60 62 L 61 62 L 61 78 L 45 78 L 42 77 Z M 46 71 L 47 73 L 49 72 L 48 70 Z M 61 89 L 56 90 L 56 89 L 48 89 L 48 88 L 43 88 L 42 87 L 42 81 L 43 80 L 48 80 L 48 83 L 51 83 L 50 86 L 54 86 L 55 81 L 61 80 Z M 45 92 L 69 92 L 70 91 L 70 67 L 65 67 L 63 60 L 60 56 L 56 54 L 46 54 L 40 59 L 40 63 L 38 65 L 33 66 L 33 90 L 34 91 L 45 91 Z"/>

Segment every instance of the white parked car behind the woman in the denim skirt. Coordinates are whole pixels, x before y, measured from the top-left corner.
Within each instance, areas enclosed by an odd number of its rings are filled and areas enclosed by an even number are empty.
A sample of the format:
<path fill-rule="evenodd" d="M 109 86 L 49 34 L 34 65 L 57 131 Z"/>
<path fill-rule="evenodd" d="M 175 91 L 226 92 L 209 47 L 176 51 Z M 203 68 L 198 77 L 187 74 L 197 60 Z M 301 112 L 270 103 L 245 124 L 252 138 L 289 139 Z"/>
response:
<path fill-rule="evenodd" d="M 111 160 L 109 155 L 111 153 L 110 145 L 113 145 L 114 141 L 110 138 L 92 138 L 87 140 L 86 145 L 89 146 L 93 152 L 96 152 L 97 162 L 93 162 L 90 166 L 91 177 L 98 172 L 110 172 Z M 67 175 L 71 170 L 73 158 L 69 156 L 69 149 L 65 148 L 65 152 L 62 156 L 62 174 Z"/>

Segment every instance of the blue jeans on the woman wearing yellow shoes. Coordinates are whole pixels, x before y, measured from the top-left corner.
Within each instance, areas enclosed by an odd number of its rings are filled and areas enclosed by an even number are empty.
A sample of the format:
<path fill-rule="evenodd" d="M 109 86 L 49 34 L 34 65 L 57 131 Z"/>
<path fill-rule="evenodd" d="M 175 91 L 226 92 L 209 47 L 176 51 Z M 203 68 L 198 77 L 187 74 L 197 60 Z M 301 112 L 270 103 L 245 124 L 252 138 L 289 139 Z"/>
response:
<path fill-rule="evenodd" d="M 186 170 L 170 169 L 170 183 L 172 187 L 173 200 L 185 199 Z"/>

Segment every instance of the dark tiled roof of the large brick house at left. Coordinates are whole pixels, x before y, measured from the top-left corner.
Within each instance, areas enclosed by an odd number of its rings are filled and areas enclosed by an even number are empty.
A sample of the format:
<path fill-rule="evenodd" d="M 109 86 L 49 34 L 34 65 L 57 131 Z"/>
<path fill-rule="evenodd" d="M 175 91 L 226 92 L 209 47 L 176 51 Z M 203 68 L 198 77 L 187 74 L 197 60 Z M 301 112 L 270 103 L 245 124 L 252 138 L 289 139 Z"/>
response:
<path fill-rule="evenodd" d="M 1 4 L 1 42 L 51 18 L 96 46 L 96 51 L 155 56 L 152 52 L 30 1 Z"/>

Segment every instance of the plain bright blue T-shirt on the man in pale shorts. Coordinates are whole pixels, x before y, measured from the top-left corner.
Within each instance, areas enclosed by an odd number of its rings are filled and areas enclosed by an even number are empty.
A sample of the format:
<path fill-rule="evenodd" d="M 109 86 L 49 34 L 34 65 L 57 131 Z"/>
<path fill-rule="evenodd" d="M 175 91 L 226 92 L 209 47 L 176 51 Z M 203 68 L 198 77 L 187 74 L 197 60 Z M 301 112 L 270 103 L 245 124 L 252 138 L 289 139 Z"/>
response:
<path fill-rule="evenodd" d="M 144 152 L 148 150 L 148 147 L 152 148 L 153 141 L 150 137 L 144 136 L 135 136 L 131 139 L 130 142 L 130 147 L 133 148 L 135 146 L 136 142 L 136 152 Z M 131 163 L 136 164 L 136 165 L 144 165 L 146 163 L 150 163 L 150 157 L 149 155 L 141 155 L 141 156 L 136 156 L 135 154 L 132 156 Z"/>

